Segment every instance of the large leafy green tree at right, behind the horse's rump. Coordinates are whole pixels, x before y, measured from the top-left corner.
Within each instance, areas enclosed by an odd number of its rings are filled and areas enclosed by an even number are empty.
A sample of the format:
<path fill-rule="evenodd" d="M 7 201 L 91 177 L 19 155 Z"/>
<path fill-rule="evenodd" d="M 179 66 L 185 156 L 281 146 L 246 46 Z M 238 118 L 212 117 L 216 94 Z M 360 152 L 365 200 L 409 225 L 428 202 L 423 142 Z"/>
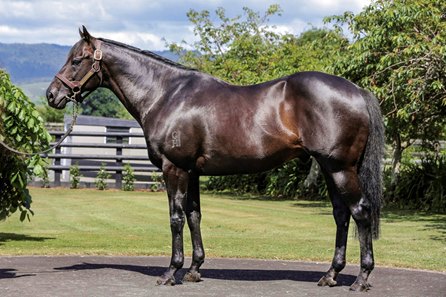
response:
<path fill-rule="evenodd" d="M 446 124 L 446 2 L 377 0 L 361 13 L 327 18 L 347 24 L 353 42 L 332 71 L 380 99 L 393 148 L 394 182 L 403 151 L 421 139 L 427 149 Z"/>

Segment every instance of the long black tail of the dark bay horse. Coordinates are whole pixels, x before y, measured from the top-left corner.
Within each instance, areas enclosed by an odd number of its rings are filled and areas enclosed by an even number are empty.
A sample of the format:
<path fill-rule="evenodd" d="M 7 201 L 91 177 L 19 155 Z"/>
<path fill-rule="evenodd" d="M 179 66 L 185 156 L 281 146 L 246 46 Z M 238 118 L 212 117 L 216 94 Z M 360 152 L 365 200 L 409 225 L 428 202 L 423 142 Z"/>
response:
<path fill-rule="evenodd" d="M 382 202 L 382 162 L 384 158 L 384 124 L 378 99 L 362 90 L 369 112 L 369 137 L 359 166 L 359 180 L 363 195 L 369 202 L 372 215 L 372 234 L 379 237 L 379 217 Z"/>

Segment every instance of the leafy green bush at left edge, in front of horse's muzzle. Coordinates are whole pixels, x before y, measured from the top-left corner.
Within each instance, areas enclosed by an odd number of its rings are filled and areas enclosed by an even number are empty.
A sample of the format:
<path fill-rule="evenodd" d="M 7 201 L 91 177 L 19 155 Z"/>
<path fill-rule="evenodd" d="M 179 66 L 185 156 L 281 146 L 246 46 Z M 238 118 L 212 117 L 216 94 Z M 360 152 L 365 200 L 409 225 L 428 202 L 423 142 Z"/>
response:
<path fill-rule="evenodd" d="M 15 87 L 8 74 L 0 70 L 0 140 L 17 150 L 32 153 L 45 149 L 51 136 L 43 119 L 25 94 Z M 39 155 L 24 158 L 0 144 L 0 220 L 17 210 L 23 221 L 32 213 L 27 181 L 34 174 L 46 174 Z"/>

